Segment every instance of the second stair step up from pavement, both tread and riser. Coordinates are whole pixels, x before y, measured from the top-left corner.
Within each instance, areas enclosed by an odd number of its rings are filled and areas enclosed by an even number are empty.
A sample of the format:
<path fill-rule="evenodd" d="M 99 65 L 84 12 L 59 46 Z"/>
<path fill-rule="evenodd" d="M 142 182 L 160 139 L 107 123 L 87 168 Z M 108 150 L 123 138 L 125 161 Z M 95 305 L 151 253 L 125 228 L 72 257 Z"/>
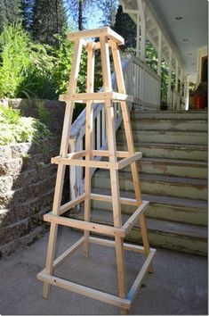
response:
<path fill-rule="evenodd" d="M 93 193 L 111 195 L 110 190 L 94 188 Z M 120 191 L 122 197 L 135 198 L 133 192 Z M 149 201 L 146 211 L 149 218 L 157 220 L 170 220 L 174 222 L 188 223 L 194 225 L 207 225 L 207 202 L 203 200 L 191 200 L 182 197 L 165 195 L 142 194 L 144 200 Z M 112 210 L 112 204 L 107 202 L 92 201 L 92 209 Z M 122 212 L 131 214 L 135 206 L 122 204 Z"/>

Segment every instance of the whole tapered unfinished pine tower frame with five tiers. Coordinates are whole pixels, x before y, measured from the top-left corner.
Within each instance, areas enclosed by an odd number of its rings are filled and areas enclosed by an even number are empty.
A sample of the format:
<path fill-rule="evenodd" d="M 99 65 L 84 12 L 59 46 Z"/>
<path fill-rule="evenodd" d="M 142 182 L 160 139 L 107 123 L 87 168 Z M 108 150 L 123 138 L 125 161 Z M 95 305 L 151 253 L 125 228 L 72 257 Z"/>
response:
<path fill-rule="evenodd" d="M 97 43 L 92 41 L 87 42 L 84 39 L 85 37 L 100 37 L 100 41 Z M 135 153 L 134 150 L 133 133 L 127 106 L 127 102 L 132 101 L 133 98 L 132 96 L 127 96 L 125 94 L 125 82 L 118 49 L 118 46 L 123 44 L 124 40 L 109 28 L 76 32 L 69 34 L 68 38 L 70 40 L 74 40 L 75 52 L 68 85 L 69 93 L 66 96 L 60 96 L 60 99 L 66 102 L 66 112 L 60 144 L 60 155 L 52 158 L 52 163 L 58 164 L 52 212 L 44 215 L 44 220 L 51 223 L 45 269 L 37 275 L 37 279 L 40 279 L 44 282 L 44 298 L 48 297 L 50 287 L 53 285 L 56 287 L 68 289 L 69 291 L 76 292 L 77 294 L 98 299 L 108 304 L 116 305 L 121 309 L 122 313 L 127 313 L 127 311 L 131 308 L 133 298 L 137 294 L 139 287 L 141 287 L 141 282 L 144 279 L 146 273 L 152 271 L 152 259 L 156 250 L 149 248 L 149 238 L 145 222 L 145 212 L 149 206 L 149 202 L 142 201 L 141 199 L 141 185 L 136 163 L 136 161 L 141 158 L 141 153 Z M 82 47 L 85 47 L 87 51 L 87 84 L 86 93 L 77 94 L 76 82 L 78 78 Z M 117 92 L 112 90 L 111 85 L 109 47 L 112 52 L 117 76 Z M 93 87 L 95 49 L 100 49 L 101 70 L 104 87 L 104 92 L 102 93 L 95 93 Z M 106 130 L 108 138 L 108 150 L 92 149 L 92 104 L 95 100 L 100 100 L 102 103 L 104 103 L 104 111 L 107 123 Z M 84 151 L 69 154 L 68 141 L 70 137 L 69 131 L 72 122 L 73 108 L 75 103 L 79 101 L 86 103 L 85 149 Z M 128 151 L 126 152 L 117 151 L 114 126 L 114 116 L 116 113 L 114 112 L 113 102 L 118 102 L 121 106 L 125 126 L 125 137 L 128 147 Z M 99 162 L 94 160 L 94 158 L 98 156 L 108 157 L 109 161 Z M 84 194 L 79 195 L 74 200 L 61 205 L 63 179 L 67 165 L 84 167 Z M 119 192 L 118 170 L 125 168 L 127 165 L 131 166 L 135 198 L 121 197 Z M 91 168 L 108 169 L 110 171 L 111 195 L 99 195 L 92 193 Z M 99 223 L 92 222 L 92 200 L 105 201 L 112 204 L 113 226 L 101 225 Z M 76 220 L 69 217 L 60 216 L 81 203 L 84 203 L 84 220 Z M 124 224 L 122 222 L 121 204 L 134 205 L 136 207 L 136 210 Z M 141 225 L 143 246 L 129 245 L 124 243 L 125 236 L 128 234 L 130 229 L 133 228 L 136 222 L 140 222 Z M 84 237 L 78 240 L 75 245 L 69 247 L 69 249 L 65 251 L 64 254 L 61 254 L 56 260 L 54 260 L 58 225 L 84 230 Z M 91 232 L 105 235 L 106 237 L 113 237 L 115 240 L 92 237 L 90 235 Z M 118 295 L 110 295 L 97 289 L 78 285 L 66 279 L 60 279 L 53 276 L 53 271 L 62 262 L 64 262 L 70 254 L 75 252 L 78 246 L 84 246 L 84 256 L 88 257 L 90 243 L 116 248 Z M 144 254 L 146 257 L 146 260 L 129 291 L 126 290 L 125 282 L 125 250 Z"/>

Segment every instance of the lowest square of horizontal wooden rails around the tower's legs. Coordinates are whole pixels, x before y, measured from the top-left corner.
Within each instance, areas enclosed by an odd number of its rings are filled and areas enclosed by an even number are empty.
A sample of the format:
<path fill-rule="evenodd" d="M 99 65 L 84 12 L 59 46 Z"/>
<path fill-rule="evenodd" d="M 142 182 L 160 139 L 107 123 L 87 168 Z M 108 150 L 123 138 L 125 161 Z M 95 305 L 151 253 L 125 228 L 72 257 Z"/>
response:
<path fill-rule="evenodd" d="M 97 245 L 106 245 L 110 247 L 116 246 L 115 241 L 102 239 L 98 237 L 89 237 L 89 241 L 90 243 L 97 244 Z M 60 266 L 62 262 L 67 260 L 70 254 L 73 254 L 76 251 L 76 248 L 82 244 L 84 244 L 84 237 L 80 238 L 74 245 L 69 247 L 67 251 L 65 251 L 56 260 L 53 261 L 52 270 L 55 270 L 58 266 Z M 144 247 L 140 245 L 124 244 L 124 249 L 127 251 L 133 251 L 136 253 L 145 254 Z M 37 279 L 49 285 L 52 285 L 55 287 L 61 287 L 61 288 L 67 289 L 68 291 L 72 291 L 80 295 L 85 295 L 87 297 L 91 297 L 101 302 L 115 305 L 117 307 L 120 307 L 121 309 L 128 311 L 130 310 L 133 304 L 133 300 L 135 296 L 137 295 L 139 288 L 141 287 L 143 279 L 145 278 L 147 272 L 149 271 L 149 266 L 152 263 L 152 259 L 155 254 L 156 254 L 156 250 L 150 248 L 149 256 L 146 258 L 145 262 L 143 263 L 140 272 L 138 273 L 136 279 L 133 282 L 133 286 L 130 288 L 125 298 L 121 298 L 117 295 L 111 295 L 106 292 L 92 289 L 92 287 L 85 287 L 83 285 L 76 284 L 75 282 L 71 282 L 66 279 L 60 279 L 60 278 L 54 277 L 46 273 L 45 270 L 38 273 Z"/>

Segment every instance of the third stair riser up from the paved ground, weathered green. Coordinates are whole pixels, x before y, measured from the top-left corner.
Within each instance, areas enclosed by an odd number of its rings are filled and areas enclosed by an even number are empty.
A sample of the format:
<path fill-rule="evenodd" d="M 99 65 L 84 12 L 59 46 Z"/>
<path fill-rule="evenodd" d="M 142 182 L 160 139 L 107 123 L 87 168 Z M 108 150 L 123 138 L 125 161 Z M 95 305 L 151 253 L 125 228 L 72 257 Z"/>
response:
<path fill-rule="evenodd" d="M 133 192 L 133 181 L 131 179 L 120 179 L 120 189 Z M 95 176 L 92 179 L 92 185 L 96 188 L 110 189 L 109 178 L 99 178 Z M 186 197 L 198 200 L 207 200 L 207 188 L 189 186 L 181 183 L 168 183 L 160 181 L 141 180 L 142 193 L 152 195 L 168 195 L 176 197 Z"/>

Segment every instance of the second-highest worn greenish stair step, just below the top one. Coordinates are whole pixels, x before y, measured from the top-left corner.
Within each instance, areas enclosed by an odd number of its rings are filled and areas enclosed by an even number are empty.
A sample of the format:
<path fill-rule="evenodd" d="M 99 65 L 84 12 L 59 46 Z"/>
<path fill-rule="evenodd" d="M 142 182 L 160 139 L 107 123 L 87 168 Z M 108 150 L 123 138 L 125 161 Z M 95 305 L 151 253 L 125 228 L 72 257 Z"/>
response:
<path fill-rule="evenodd" d="M 121 127 L 124 129 L 124 125 Z M 132 119 L 132 128 L 136 130 L 190 130 L 207 131 L 207 120 L 183 120 L 183 119 Z"/>

